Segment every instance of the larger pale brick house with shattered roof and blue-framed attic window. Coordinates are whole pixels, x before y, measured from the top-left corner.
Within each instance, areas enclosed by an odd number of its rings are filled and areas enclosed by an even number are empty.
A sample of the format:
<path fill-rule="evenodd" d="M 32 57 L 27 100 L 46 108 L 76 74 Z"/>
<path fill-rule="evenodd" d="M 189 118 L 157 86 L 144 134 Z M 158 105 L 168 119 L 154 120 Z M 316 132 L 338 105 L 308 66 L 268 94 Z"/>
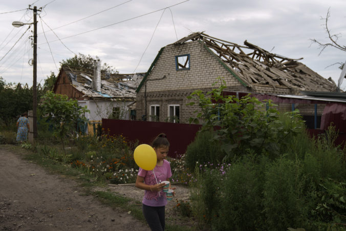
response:
<path fill-rule="evenodd" d="M 158 52 L 137 88 L 137 119 L 188 123 L 198 106 L 187 106 L 195 90 L 209 91 L 218 77 L 231 94 L 253 96 L 302 95 L 302 91 L 332 92 L 335 82 L 299 62 L 248 43 L 237 45 L 192 33 Z M 265 99 L 265 98 L 261 98 Z M 310 102 L 311 103 L 311 102 Z M 302 115 L 322 114 L 326 101 L 293 104 L 283 100 L 280 111 L 299 109 Z"/>

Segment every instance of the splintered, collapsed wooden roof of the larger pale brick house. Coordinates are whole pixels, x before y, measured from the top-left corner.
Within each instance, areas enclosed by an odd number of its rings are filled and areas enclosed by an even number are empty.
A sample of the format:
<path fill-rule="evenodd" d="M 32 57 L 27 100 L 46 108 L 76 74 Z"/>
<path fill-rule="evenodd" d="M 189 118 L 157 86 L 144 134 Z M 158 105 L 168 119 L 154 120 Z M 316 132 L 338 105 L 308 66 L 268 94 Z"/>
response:
<path fill-rule="evenodd" d="M 335 82 L 328 80 L 292 59 L 270 53 L 244 41 L 244 46 L 211 37 L 203 32 L 192 33 L 174 43 L 198 40 L 207 50 L 217 55 L 243 85 L 256 89 L 256 85 L 270 85 L 274 89 L 285 86 L 298 91 L 336 90 Z"/>

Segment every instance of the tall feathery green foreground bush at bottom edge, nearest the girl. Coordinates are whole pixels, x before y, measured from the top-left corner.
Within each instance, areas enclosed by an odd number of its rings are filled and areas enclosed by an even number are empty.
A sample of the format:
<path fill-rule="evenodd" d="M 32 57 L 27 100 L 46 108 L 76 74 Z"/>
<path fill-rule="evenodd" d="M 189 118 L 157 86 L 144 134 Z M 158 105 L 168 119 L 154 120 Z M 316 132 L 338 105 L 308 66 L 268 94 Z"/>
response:
<path fill-rule="evenodd" d="M 264 158 L 264 163 L 266 158 Z M 230 166 L 220 186 L 217 230 L 255 230 L 262 217 L 263 165 L 253 156 Z"/>

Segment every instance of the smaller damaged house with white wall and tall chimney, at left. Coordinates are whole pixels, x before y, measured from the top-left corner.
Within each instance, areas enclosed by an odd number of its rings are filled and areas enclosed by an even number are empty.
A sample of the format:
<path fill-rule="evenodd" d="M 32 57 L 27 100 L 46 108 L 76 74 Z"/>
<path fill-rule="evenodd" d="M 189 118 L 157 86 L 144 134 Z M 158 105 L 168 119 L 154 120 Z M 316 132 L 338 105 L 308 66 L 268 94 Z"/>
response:
<path fill-rule="evenodd" d="M 97 67 L 94 72 L 61 67 L 53 92 L 87 106 L 90 113 L 85 116 L 91 123 L 100 123 L 102 118 L 136 119 L 136 89 L 144 74 L 101 76 L 99 62 Z"/>

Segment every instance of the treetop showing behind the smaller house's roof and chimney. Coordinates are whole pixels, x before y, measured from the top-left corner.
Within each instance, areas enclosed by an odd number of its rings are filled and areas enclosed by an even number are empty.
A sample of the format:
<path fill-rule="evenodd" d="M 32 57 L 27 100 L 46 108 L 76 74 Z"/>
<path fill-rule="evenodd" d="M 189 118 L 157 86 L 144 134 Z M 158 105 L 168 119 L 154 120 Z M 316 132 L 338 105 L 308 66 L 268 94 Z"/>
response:
<path fill-rule="evenodd" d="M 94 71 L 94 60 L 99 59 L 99 57 L 96 56 L 96 58 L 93 58 L 90 55 L 83 55 L 81 53 L 75 55 L 72 58 L 68 58 L 66 60 L 62 59 L 60 62 L 61 66 L 68 66 L 71 68 L 82 68 L 82 69 L 87 69 L 90 71 Z M 102 74 L 115 74 L 118 73 L 117 70 L 114 69 L 114 67 L 107 65 L 104 63 L 101 66 L 101 73 Z"/>

